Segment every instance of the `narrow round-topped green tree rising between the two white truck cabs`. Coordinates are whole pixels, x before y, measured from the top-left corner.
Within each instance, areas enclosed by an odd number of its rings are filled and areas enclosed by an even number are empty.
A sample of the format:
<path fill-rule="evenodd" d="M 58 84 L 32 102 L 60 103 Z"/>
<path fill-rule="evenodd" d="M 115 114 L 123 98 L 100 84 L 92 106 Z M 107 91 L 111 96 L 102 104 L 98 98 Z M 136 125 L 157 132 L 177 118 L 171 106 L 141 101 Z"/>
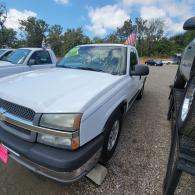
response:
<path fill-rule="evenodd" d="M 63 28 L 55 24 L 49 28 L 48 32 L 47 43 L 49 43 L 57 56 L 63 56 Z"/>

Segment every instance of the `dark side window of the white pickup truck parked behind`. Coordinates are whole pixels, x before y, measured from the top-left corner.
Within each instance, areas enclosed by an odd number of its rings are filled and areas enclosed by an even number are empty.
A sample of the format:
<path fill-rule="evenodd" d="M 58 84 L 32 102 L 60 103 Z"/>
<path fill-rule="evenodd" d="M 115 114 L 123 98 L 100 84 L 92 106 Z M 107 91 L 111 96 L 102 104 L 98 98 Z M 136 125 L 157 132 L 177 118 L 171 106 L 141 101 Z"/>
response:
<path fill-rule="evenodd" d="M 29 65 L 52 64 L 48 51 L 35 51 L 28 61 Z"/>

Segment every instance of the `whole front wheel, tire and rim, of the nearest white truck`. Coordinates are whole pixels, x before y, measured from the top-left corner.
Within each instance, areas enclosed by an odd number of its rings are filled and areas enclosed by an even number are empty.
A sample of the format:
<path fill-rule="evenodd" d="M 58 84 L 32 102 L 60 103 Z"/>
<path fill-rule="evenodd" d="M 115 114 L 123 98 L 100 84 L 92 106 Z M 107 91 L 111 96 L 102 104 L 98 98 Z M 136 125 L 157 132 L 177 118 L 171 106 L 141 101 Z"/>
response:
<path fill-rule="evenodd" d="M 110 160 L 116 149 L 121 132 L 122 114 L 120 111 L 114 113 L 108 120 L 104 131 L 104 145 L 100 161 L 106 163 Z"/>

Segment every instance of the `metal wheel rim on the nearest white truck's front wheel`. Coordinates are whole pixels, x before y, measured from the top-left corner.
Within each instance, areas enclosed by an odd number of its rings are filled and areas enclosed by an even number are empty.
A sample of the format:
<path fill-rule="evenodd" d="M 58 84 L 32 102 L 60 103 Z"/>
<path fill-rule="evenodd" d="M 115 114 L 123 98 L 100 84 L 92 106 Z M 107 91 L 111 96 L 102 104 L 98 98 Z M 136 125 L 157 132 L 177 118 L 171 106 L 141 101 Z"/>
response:
<path fill-rule="evenodd" d="M 116 143 L 118 133 L 119 133 L 119 128 L 120 128 L 120 122 L 117 120 L 114 122 L 112 129 L 110 131 L 108 146 L 107 146 L 108 151 L 112 150 L 112 148 Z"/>

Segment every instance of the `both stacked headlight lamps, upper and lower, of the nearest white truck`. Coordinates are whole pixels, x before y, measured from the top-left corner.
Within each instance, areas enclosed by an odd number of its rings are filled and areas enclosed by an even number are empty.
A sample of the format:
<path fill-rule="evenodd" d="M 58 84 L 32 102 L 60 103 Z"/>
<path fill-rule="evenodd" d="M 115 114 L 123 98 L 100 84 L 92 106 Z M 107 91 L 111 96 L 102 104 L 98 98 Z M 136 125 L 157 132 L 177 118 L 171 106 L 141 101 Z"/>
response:
<path fill-rule="evenodd" d="M 43 114 L 39 126 L 67 132 L 67 136 L 38 134 L 37 141 L 58 148 L 77 149 L 82 114 Z"/>

